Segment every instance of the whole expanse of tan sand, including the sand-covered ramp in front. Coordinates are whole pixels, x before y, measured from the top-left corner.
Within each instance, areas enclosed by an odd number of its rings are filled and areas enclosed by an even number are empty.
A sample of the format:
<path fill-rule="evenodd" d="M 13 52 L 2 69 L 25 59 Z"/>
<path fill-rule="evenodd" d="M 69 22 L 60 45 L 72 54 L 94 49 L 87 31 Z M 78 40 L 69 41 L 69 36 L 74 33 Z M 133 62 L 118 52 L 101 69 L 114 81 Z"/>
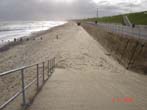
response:
<path fill-rule="evenodd" d="M 126 70 L 108 54 L 81 26 L 70 22 L 0 53 L 0 71 L 56 57 L 55 73 L 30 110 L 145 110 L 147 78 Z M 26 80 L 31 77 L 34 74 Z M 13 75 L 5 82 L 0 79 L 0 103 L 21 84 Z M 114 104 L 112 98 L 118 97 L 134 102 Z"/>

